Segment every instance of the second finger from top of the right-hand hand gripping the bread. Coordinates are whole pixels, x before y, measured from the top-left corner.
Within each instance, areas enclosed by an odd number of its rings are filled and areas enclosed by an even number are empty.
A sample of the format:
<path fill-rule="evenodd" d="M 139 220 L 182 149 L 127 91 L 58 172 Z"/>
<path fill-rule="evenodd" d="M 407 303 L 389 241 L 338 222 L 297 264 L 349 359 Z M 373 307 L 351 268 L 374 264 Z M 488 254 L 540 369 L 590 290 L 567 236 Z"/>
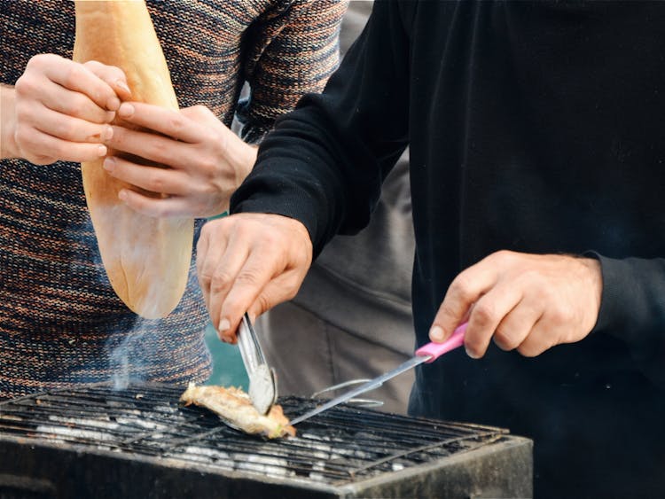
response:
<path fill-rule="evenodd" d="M 106 144 L 117 151 L 129 152 L 139 158 L 170 167 L 192 161 L 187 144 L 151 132 L 113 126 L 113 137 Z"/>

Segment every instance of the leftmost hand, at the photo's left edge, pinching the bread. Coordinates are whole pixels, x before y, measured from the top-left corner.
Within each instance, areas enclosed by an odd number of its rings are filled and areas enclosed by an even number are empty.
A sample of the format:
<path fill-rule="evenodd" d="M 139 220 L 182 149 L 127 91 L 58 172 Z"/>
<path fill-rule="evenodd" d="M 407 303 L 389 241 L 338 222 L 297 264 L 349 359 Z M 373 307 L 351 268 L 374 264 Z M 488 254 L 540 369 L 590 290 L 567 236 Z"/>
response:
<path fill-rule="evenodd" d="M 16 85 L 2 91 L 2 157 L 37 165 L 104 156 L 109 123 L 130 97 L 118 67 L 55 54 L 35 55 Z"/>

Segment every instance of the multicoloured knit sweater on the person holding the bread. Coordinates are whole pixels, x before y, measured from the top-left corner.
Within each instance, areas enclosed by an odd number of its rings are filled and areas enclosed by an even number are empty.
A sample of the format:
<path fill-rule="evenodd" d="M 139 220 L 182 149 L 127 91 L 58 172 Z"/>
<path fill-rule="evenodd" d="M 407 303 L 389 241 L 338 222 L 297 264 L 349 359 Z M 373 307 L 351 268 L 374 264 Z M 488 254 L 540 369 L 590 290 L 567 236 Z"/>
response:
<path fill-rule="evenodd" d="M 241 111 L 243 136 L 257 141 L 302 93 L 322 90 L 338 63 L 346 0 L 148 8 L 180 106 L 206 105 L 227 125 Z M 0 0 L 0 26 L 0 82 L 12 85 L 37 53 L 71 57 L 74 3 Z M 244 82 L 251 95 L 239 105 Z M 204 380 L 206 324 L 193 258 L 187 292 L 165 319 L 139 319 L 115 296 L 78 164 L 0 163 L 0 398 L 113 379 Z"/>

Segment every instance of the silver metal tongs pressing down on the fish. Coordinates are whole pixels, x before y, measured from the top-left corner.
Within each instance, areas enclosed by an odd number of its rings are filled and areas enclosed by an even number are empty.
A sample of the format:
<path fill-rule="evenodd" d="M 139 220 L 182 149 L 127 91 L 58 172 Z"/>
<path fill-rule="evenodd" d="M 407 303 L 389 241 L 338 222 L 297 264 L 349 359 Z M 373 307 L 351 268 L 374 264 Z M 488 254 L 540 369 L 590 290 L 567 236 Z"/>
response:
<path fill-rule="evenodd" d="M 249 377 L 249 400 L 259 414 L 268 414 L 278 396 L 275 370 L 266 362 L 256 331 L 247 314 L 240 322 L 238 347 Z"/>

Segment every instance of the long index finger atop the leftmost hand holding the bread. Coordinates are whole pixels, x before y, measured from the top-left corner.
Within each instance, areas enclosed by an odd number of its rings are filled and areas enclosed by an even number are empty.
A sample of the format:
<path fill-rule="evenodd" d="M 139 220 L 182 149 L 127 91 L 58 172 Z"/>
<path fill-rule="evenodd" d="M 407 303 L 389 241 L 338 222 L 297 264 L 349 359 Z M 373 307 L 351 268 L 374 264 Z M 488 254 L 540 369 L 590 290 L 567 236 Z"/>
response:
<path fill-rule="evenodd" d="M 26 69 L 30 66 L 42 71 L 52 82 L 87 95 L 101 108 L 115 111 L 120 107 L 115 90 L 82 64 L 54 54 L 40 54 L 28 61 Z"/>

